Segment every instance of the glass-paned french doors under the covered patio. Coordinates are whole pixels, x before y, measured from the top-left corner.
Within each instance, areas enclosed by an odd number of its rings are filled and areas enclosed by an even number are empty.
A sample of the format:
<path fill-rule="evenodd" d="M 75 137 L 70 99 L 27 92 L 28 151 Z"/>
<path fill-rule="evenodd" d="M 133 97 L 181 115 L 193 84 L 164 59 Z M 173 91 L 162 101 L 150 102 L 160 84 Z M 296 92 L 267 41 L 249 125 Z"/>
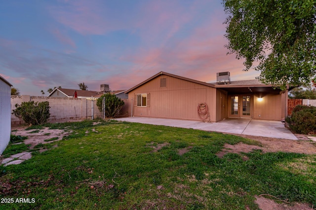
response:
<path fill-rule="evenodd" d="M 251 118 L 251 95 L 229 96 L 229 117 Z"/>

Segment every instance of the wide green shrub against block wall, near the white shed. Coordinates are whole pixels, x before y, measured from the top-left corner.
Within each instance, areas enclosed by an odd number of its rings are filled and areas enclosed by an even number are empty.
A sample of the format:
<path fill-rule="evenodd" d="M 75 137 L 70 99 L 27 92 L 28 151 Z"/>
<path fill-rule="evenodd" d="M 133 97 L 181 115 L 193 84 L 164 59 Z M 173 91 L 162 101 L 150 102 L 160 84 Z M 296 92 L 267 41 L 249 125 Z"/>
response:
<path fill-rule="evenodd" d="M 50 116 L 48 101 L 22 102 L 21 105 L 15 104 L 15 107 L 16 109 L 13 110 L 12 114 L 30 125 L 43 124 Z"/>

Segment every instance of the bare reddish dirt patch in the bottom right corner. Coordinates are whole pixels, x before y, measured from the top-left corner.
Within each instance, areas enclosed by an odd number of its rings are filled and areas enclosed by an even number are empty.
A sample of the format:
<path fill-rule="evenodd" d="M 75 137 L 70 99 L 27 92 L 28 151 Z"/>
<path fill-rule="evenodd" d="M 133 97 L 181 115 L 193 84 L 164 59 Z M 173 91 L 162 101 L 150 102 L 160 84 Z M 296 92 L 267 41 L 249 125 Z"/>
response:
<path fill-rule="evenodd" d="M 255 203 L 258 204 L 259 209 L 261 210 L 315 210 L 308 204 L 288 203 L 283 201 L 281 203 L 276 203 L 276 201 L 262 196 L 255 196 L 255 198 Z"/>

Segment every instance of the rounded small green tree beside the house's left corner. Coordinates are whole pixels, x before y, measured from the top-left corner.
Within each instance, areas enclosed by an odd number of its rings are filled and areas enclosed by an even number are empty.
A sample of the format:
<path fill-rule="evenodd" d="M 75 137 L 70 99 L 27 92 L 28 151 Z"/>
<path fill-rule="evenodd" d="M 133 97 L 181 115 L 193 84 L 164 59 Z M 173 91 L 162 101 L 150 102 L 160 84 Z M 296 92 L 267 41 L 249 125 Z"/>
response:
<path fill-rule="evenodd" d="M 100 112 L 102 112 L 103 100 L 105 117 L 117 118 L 119 116 L 119 111 L 124 106 L 124 101 L 109 92 L 103 94 L 100 98 L 97 99 L 97 106 L 99 107 Z"/>

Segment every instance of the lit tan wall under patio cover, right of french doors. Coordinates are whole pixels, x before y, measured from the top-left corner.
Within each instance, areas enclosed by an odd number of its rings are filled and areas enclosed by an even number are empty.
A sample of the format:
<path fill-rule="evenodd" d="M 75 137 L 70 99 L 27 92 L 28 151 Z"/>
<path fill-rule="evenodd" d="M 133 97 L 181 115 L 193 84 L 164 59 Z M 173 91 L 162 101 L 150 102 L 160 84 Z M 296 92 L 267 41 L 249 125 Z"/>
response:
<path fill-rule="evenodd" d="M 282 94 L 265 94 L 262 101 L 258 100 L 259 95 L 254 94 L 253 116 L 255 120 L 282 120 L 284 117 L 282 104 L 284 96 Z M 285 111 L 284 111 L 285 113 Z"/>

